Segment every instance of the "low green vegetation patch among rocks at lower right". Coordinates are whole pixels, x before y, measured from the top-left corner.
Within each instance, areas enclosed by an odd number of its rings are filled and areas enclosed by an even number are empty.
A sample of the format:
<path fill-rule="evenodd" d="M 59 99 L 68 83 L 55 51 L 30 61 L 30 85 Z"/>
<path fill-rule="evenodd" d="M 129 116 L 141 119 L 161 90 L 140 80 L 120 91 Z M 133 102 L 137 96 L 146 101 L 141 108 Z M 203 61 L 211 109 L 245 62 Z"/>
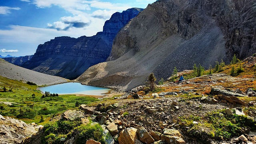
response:
<path fill-rule="evenodd" d="M 240 136 L 244 130 L 256 130 L 256 122 L 247 116 L 236 114 L 227 115 L 225 109 L 209 112 L 205 116 L 180 117 L 180 123 L 184 126 L 190 126 L 188 133 L 203 141 L 204 138 L 214 138 L 217 140 L 229 140 L 234 136 Z M 193 124 L 193 121 L 200 122 Z"/>

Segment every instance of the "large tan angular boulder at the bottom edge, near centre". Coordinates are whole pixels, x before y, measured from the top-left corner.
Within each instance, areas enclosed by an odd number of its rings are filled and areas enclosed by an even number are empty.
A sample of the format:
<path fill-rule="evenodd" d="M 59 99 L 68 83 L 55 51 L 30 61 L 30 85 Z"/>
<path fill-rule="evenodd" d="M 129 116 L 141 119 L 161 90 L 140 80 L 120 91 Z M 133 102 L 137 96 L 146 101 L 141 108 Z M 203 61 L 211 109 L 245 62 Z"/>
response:
<path fill-rule="evenodd" d="M 119 144 L 135 144 L 135 142 L 138 141 L 136 132 L 136 128 L 127 128 L 126 130 L 122 130 L 119 133 Z"/>

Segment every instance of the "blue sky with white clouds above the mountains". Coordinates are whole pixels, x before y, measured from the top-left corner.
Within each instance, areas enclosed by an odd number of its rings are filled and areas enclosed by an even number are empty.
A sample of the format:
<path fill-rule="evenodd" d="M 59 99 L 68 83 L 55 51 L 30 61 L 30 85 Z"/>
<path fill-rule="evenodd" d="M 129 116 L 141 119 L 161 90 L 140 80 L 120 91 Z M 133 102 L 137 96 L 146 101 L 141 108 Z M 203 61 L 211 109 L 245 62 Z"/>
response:
<path fill-rule="evenodd" d="M 57 36 L 93 36 L 113 13 L 155 1 L 0 0 L 0 55 L 31 55 Z"/>

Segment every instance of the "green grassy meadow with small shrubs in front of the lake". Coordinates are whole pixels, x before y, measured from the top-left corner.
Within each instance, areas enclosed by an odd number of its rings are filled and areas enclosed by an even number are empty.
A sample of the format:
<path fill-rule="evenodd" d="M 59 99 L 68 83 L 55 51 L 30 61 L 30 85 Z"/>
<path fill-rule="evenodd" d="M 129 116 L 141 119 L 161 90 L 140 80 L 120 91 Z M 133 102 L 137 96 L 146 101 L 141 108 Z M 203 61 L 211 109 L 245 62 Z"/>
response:
<path fill-rule="evenodd" d="M 6 87 L 7 92 L 3 92 L 4 87 Z M 26 123 L 39 123 L 40 115 L 46 119 L 56 116 L 65 110 L 76 108 L 76 101 L 79 104 L 90 104 L 98 101 L 98 99 L 89 96 L 75 95 L 42 98 L 41 91 L 36 90 L 37 87 L 0 76 L 0 102 L 17 103 L 12 105 L 0 103 L 0 114 L 18 118 Z M 8 90 L 11 88 L 12 92 L 9 92 Z"/>

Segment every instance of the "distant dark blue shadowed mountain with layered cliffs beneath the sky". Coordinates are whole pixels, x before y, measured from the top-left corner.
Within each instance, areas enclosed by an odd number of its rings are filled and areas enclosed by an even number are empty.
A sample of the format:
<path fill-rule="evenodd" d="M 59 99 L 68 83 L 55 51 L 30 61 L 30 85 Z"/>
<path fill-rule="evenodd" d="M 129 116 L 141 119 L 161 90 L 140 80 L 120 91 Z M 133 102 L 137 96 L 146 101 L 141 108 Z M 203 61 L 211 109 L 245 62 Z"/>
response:
<path fill-rule="evenodd" d="M 118 31 L 141 11 L 140 8 L 130 8 L 122 13 L 116 12 L 105 22 L 103 32 L 95 36 L 62 36 L 40 44 L 33 58 L 22 67 L 75 79 L 90 66 L 106 61 Z"/>

